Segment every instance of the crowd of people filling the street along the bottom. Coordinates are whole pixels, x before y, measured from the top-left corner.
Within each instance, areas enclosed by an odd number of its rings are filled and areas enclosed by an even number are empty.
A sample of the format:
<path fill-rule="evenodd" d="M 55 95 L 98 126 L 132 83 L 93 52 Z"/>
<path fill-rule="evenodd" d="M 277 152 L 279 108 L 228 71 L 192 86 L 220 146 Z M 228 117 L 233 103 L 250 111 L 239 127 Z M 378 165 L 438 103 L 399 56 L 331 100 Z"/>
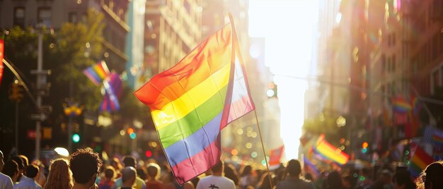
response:
<path fill-rule="evenodd" d="M 120 160 L 122 164 L 120 164 Z M 47 170 L 47 172 L 45 171 Z M 76 150 L 67 159 L 52 159 L 49 169 L 39 160 L 32 162 L 23 155 L 6 159 L 0 151 L 0 188 L 304 188 L 304 189 L 435 189 L 443 188 L 443 161 L 428 165 L 413 180 L 407 169 L 392 170 L 381 167 L 376 173 L 371 168 L 323 171 L 318 176 L 303 173 L 297 159 L 273 171 L 253 169 L 253 166 L 234 166 L 219 161 L 211 170 L 191 181 L 178 185 L 167 164 L 154 160 L 137 167 L 132 156 L 113 158 L 103 162 L 93 150 Z M 374 174 L 373 174 L 374 173 Z"/>

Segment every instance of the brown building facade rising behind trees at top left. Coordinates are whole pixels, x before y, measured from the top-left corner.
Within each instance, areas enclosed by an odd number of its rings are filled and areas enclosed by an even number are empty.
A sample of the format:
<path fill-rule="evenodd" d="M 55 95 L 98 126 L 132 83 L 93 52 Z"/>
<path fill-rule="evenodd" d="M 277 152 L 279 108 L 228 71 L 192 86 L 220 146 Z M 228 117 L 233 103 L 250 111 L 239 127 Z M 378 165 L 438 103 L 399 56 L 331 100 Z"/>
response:
<path fill-rule="evenodd" d="M 125 22 L 129 1 L 91 0 L 91 1 L 12 1 L 0 2 L 0 28 L 13 25 L 36 26 L 39 23 L 57 31 L 63 23 L 76 23 L 86 18 L 88 8 L 95 8 L 105 15 L 106 28 L 103 30 L 103 59 L 117 73 L 125 71 L 125 36 L 130 27 Z"/>

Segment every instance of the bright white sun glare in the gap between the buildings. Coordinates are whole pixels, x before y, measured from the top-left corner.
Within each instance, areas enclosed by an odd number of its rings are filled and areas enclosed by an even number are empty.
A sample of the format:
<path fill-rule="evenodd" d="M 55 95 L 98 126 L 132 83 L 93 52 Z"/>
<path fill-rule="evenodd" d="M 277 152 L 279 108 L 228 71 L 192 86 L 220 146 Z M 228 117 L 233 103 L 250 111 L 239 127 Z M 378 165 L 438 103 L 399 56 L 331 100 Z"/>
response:
<path fill-rule="evenodd" d="M 265 65 L 279 85 L 280 137 L 286 159 L 298 159 L 304 92 L 316 37 L 318 1 L 251 0 L 249 35 L 265 37 Z"/>

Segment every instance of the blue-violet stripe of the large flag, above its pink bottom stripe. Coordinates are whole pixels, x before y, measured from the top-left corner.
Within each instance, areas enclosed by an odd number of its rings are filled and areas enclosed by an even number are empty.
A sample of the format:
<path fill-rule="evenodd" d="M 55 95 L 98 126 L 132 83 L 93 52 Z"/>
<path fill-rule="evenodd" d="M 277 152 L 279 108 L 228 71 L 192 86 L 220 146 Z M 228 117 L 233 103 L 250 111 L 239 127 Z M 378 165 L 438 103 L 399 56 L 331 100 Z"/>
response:
<path fill-rule="evenodd" d="M 168 157 L 169 164 L 176 166 L 185 159 L 193 157 L 196 154 L 204 151 L 219 135 L 220 122 L 222 120 L 222 113 L 206 123 L 205 126 L 197 130 L 192 135 L 183 140 L 179 140 L 173 145 L 166 147 L 166 157 Z M 198 144 L 198 145 L 195 145 Z M 184 151 L 185 150 L 185 151 Z"/>

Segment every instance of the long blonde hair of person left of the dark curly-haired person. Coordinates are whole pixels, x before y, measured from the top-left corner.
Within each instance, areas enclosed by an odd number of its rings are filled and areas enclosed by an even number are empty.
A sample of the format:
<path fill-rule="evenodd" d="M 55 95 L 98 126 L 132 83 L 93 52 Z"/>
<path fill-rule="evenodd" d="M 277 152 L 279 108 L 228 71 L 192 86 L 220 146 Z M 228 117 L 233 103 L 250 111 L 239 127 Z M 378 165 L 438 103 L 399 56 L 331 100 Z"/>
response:
<path fill-rule="evenodd" d="M 45 189 L 72 188 L 72 185 L 74 184 L 72 172 L 69 169 L 69 161 L 62 158 L 52 160 Z"/>

